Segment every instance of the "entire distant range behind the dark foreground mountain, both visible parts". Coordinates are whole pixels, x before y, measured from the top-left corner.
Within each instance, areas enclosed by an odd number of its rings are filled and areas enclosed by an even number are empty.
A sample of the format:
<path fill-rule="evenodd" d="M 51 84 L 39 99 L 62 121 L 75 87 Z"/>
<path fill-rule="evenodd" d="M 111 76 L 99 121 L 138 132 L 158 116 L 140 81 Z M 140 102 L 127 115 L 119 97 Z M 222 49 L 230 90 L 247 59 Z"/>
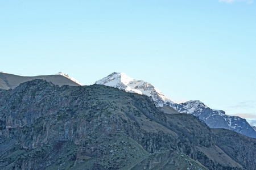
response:
<path fill-rule="evenodd" d="M 0 88 L 9 90 L 19 86 L 20 83 L 33 79 L 44 79 L 58 86 L 81 86 L 82 84 L 75 78 L 69 77 L 62 72 L 56 75 L 40 76 L 19 76 L 13 74 L 0 73 Z M 149 96 L 158 109 L 164 113 L 186 113 L 193 114 L 203 120 L 210 128 L 224 128 L 236 131 L 248 137 L 256 138 L 255 126 L 241 117 L 229 116 L 224 111 L 217 111 L 207 107 L 199 100 L 191 100 L 185 103 L 176 104 L 165 96 L 160 90 L 144 80 L 135 80 L 125 73 L 112 73 L 96 82 L 105 86 L 115 87 L 126 92 L 137 93 Z M 168 107 L 167 107 L 168 106 Z"/>

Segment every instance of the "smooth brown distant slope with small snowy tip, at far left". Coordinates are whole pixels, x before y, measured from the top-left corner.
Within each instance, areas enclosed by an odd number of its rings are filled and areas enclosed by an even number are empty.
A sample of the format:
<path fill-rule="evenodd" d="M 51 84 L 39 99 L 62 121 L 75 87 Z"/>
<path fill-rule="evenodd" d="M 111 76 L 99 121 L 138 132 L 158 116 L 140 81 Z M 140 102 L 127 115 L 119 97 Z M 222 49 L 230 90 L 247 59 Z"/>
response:
<path fill-rule="evenodd" d="M 39 76 L 19 76 L 14 74 L 0 73 L 0 89 L 9 90 L 34 79 L 43 79 L 58 86 L 81 86 L 81 83 L 76 82 L 75 79 L 70 78 L 67 74 L 58 73 L 57 75 L 39 75 Z"/>

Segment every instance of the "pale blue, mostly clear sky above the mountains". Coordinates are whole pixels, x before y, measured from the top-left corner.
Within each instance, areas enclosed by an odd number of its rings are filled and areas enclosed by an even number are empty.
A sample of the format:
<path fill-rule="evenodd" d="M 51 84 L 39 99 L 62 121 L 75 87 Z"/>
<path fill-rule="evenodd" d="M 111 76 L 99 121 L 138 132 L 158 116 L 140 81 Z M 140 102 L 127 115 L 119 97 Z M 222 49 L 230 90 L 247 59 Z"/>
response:
<path fill-rule="evenodd" d="M 0 71 L 115 72 L 256 125 L 256 1 L 3 1 Z"/>

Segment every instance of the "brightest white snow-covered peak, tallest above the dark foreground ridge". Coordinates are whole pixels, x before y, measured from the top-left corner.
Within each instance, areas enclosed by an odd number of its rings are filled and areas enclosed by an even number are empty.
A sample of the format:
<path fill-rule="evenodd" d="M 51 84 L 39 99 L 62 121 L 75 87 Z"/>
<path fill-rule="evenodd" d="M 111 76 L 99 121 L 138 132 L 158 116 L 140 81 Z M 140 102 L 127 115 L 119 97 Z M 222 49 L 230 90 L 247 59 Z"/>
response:
<path fill-rule="evenodd" d="M 125 73 L 112 73 L 105 78 L 96 82 L 105 86 L 116 87 L 126 92 L 134 92 L 141 95 L 151 96 L 156 107 L 173 104 L 174 102 L 164 96 L 160 90 L 152 86 L 152 84 L 143 80 L 135 80 L 130 78 Z"/>

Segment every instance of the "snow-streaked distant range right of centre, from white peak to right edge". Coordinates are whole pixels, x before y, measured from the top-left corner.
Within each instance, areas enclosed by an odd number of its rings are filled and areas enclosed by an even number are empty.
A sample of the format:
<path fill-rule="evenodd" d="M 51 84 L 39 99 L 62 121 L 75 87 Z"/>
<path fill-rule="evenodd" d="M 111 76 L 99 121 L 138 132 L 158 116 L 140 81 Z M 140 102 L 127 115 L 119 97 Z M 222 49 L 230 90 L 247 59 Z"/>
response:
<path fill-rule="evenodd" d="M 144 82 L 143 80 L 135 80 L 130 78 L 125 73 L 112 73 L 105 78 L 96 82 L 96 84 L 103 84 L 125 90 L 126 92 L 135 92 L 151 97 L 156 107 L 163 107 L 169 105 L 180 113 L 193 114 L 203 120 L 210 128 L 224 128 L 236 131 L 248 137 L 256 138 L 256 131 L 253 126 L 241 117 L 226 115 L 224 111 L 217 111 L 207 107 L 199 100 L 191 100 L 185 103 L 176 104 L 167 96 L 164 96 L 152 84 Z M 166 110 L 166 109 L 165 109 Z"/>

